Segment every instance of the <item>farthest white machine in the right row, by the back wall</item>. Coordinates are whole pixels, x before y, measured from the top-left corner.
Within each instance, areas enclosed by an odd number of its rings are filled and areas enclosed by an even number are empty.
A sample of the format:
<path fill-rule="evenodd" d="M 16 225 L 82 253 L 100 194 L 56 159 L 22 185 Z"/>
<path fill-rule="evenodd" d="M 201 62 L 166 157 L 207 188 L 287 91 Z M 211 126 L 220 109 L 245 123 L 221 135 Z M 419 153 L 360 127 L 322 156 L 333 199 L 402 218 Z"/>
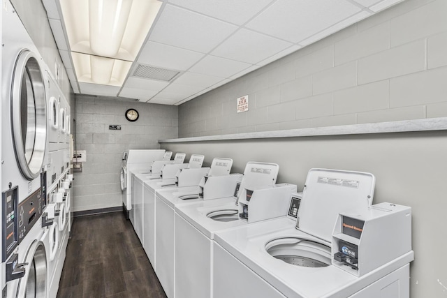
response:
<path fill-rule="evenodd" d="M 145 150 L 126 150 L 122 158 L 121 185 L 123 192 L 123 208 L 129 212 L 132 209 L 131 203 L 131 175 L 136 172 L 149 172 L 149 168 L 154 161 L 161 161 L 165 150 L 145 149 Z"/>

